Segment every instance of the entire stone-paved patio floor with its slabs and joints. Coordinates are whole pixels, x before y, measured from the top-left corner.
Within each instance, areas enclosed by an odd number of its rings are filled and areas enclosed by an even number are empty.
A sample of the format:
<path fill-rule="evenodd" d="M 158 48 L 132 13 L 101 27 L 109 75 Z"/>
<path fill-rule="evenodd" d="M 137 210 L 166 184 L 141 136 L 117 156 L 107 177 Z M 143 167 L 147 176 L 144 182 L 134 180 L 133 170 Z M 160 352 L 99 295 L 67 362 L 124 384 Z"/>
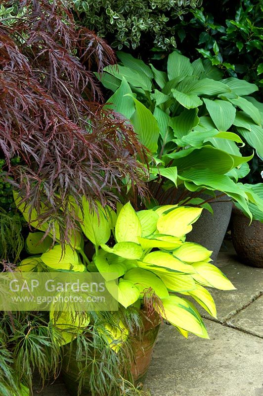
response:
<path fill-rule="evenodd" d="M 218 319 L 202 311 L 210 340 L 163 324 L 145 383 L 152 396 L 263 396 L 263 269 L 241 264 L 227 242 L 217 266 L 237 290 L 212 290 Z M 40 396 L 68 396 L 62 382 Z"/>

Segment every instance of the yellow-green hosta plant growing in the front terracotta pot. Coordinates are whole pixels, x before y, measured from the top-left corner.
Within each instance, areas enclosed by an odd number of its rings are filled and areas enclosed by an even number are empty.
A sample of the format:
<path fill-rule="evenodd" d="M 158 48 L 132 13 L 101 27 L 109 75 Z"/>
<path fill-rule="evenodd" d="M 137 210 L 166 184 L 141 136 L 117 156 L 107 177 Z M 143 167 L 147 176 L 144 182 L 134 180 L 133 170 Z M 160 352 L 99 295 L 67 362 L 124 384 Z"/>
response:
<path fill-rule="evenodd" d="M 209 314 L 217 317 L 215 302 L 205 287 L 232 290 L 234 286 L 211 263 L 212 251 L 185 242 L 185 235 L 192 230 L 202 208 L 165 205 L 135 211 L 128 202 L 118 207 L 117 212 L 99 204 L 97 212 L 92 212 L 85 199 L 83 207 L 84 211 L 78 216 L 84 238 L 74 239 L 77 241 L 75 248 L 68 245 L 63 251 L 60 244 L 52 247 L 52 239 L 47 240 L 47 247 L 46 240 L 40 242 L 44 233 L 31 233 L 26 246 L 30 253 L 38 254 L 23 260 L 19 268 L 25 271 L 100 272 L 109 293 L 117 275 L 118 302 L 124 308 L 143 306 L 146 297 L 156 312 L 183 336 L 187 337 L 191 332 L 208 338 L 197 308 L 187 297 L 193 297 Z M 84 239 L 88 239 L 89 245 L 90 242 L 93 244 L 92 259 L 84 253 Z M 68 316 L 64 315 L 67 325 Z M 54 319 L 52 312 L 50 318 Z M 72 325 L 76 325 L 73 322 Z M 63 315 L 59 324 L 65 334 Z M 76 332 L 87 326 L 86 318 L 77 323 Z M 122 329 L 123 324 L 119 327 Z M 125 341 L 128 333 L 123 330 L 118 332 L 105 323 L 105 333 Z M 72 337 L 64 339 L 66 343 Z M 114 345 L 116 348 L 116 343 Z"/>

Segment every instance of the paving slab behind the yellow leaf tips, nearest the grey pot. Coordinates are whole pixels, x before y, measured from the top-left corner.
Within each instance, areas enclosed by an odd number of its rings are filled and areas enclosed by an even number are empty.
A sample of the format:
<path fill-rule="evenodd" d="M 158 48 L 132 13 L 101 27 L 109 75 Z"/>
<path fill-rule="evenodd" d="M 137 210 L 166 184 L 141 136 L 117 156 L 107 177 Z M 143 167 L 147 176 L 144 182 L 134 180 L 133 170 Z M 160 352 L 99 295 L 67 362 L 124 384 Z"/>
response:
<path fill-rule="evenodd" d="M 218 320 L 224 323 L 263 294 L 263 268 L 249 267 L 236 262 L 224 266 L 221 270 L 237 289 L 229 291 L 208 289 L 217 306 Z M 199 310 L 203 317 L 211 318 L 204 309 Z"/>

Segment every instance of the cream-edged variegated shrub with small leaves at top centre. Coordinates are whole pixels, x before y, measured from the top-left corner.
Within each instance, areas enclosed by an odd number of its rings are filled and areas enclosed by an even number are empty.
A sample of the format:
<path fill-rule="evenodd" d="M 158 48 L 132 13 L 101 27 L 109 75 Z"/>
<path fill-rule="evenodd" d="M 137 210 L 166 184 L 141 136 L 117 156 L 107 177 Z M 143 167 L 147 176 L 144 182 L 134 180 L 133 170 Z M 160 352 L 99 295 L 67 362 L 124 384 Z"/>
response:
<path fill-rule="evenodd" d="M 176 47 L 175 19 L 200 0 L 73 0 L 81 23 L 105 37 L 112 47 L 135 49 L 145 44 Z"/>

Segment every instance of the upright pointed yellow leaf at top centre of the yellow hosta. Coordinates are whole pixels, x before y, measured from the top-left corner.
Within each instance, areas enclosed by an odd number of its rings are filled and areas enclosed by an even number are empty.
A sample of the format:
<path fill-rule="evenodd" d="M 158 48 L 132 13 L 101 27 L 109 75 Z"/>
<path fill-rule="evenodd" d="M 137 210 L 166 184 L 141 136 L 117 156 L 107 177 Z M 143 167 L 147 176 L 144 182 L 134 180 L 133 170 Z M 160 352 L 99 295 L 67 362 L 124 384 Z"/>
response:
<path fill-rule="evenodd" d="M 126 203 L 117 218 L 115 227 L 115 238 L 117 242 L 135 242 L 141 237 L 142 228 L 137 213 L 130 202 Z"/>

